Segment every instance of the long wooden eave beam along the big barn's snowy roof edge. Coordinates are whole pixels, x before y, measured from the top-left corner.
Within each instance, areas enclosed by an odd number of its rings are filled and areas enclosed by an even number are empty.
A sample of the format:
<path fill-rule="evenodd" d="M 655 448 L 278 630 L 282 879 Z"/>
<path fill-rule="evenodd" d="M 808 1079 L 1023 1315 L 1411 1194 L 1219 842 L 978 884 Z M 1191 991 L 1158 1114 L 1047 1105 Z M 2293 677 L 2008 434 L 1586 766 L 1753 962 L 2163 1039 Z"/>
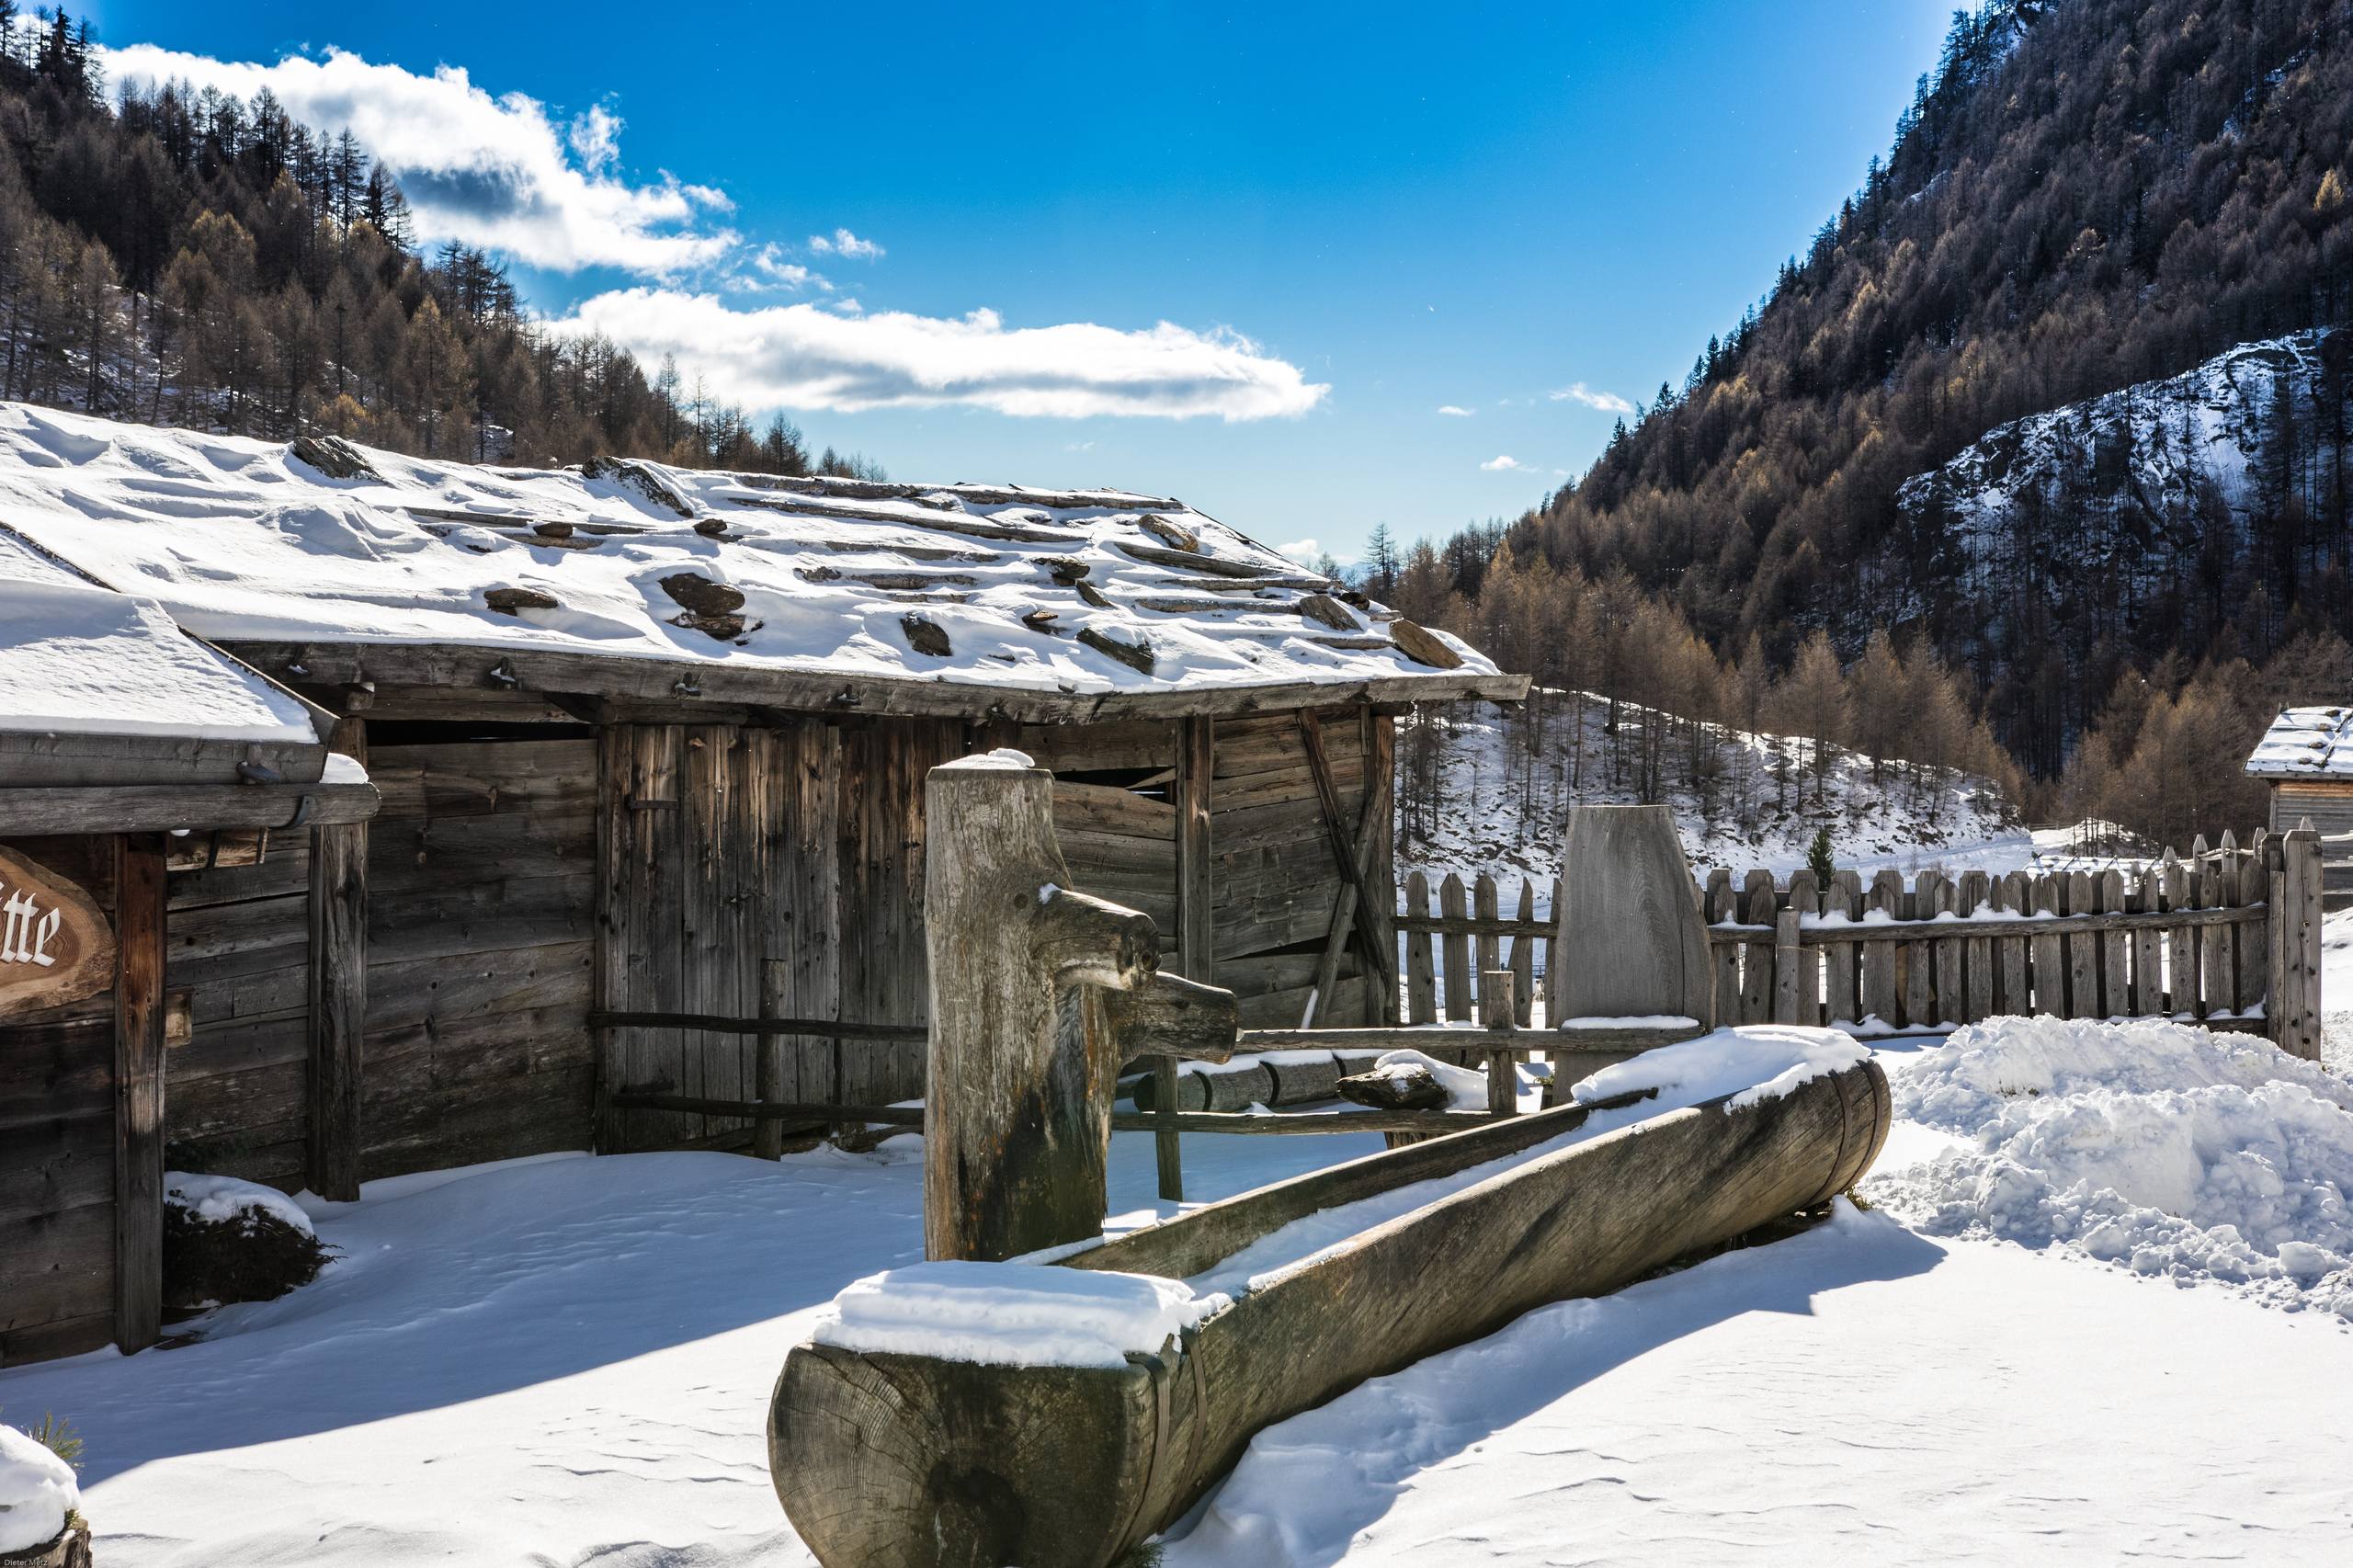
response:
<path fill-rule="evenodd" d="M 224 643 L 275 680 L 332 690 L 362 680 L 461 690 L 576 692 L 593 697 L 746 704 L 800 713 L 873 713 L 1014 723 L 1108 723 L 1275 713 L 1346 702 L 1520 702 L 1527 676 L 1475 671 L 1400 671 L 1334 680 L 1266 685 L 1172 685 L 1167 690 L 1042 692 L 979 680 L 838 676 L 798 669 L 751 669 L 692 659 L 645 659 L 572 650 L 454 643 Z"/>

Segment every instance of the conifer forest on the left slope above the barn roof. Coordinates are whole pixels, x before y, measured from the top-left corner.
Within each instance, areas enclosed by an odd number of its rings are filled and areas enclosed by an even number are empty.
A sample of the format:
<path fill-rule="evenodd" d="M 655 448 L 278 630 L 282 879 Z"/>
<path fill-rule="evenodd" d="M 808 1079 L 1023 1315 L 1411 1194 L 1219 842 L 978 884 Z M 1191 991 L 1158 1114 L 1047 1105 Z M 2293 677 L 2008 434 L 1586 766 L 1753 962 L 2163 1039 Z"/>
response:
<path fill-rule="evenodd" d="M 296 125 L 266 89 L 115 94 L 87 21 L 21 9 L 0 0 L 0 396 L 475 461 L 878 473 L 675 365 L 539 330 L 499 259 L 416 242 L 351 132 Z"/>

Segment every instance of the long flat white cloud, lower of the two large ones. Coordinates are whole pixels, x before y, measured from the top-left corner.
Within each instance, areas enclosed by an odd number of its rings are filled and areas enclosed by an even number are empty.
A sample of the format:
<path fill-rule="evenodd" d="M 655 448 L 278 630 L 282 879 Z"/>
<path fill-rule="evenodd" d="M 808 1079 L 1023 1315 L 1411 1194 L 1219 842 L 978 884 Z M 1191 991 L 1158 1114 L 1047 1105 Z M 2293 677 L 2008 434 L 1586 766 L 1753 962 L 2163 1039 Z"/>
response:
<path fill-rule="evenodd" d="M 965 405 L 1056 419 L 1235 421 L 1304 414 L 1329 391 L 1238 332 L 1172 323 L 1122 332 L 1094 323 L 1007 327 L 995 311 L 739 311 L 718 294 L 633 287 L 584 299 L 551 327 L 602 332 L 647 363 L 675 353 L 713 396 L 751 407 Z"/>

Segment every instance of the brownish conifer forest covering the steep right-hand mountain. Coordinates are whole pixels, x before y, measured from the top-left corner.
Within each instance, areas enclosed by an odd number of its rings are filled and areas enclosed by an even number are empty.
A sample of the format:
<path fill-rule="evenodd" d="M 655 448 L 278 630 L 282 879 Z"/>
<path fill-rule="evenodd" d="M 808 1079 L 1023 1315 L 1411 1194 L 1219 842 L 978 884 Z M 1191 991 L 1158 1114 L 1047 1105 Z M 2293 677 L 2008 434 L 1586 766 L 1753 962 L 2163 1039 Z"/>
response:
<path fill-rule="evenodd" d="M 2038 815 L 2245 831 L 2275 704 L 2353 695 L 2348 144 L 2341 0 L 1955 14 L 1887 158 L 1680 384 L 1525 516 L 1377 539 L 1374 591 L 1546 683 L 1737 725 L 1788 692 L 1800 735 L 2002 751 Z M 2191 452 L 2158 492 L 2085 421 L 1991 518 L 1904 492 L 2005 421 L 2297 332 L 2311 370 L 2242 473 Z M 1988 534 L 2024 544 L 1995 567 Z M 1633 614 L 1664 657 L 1612 652 Z M 1946 702 L 1885 709 L 1889 657 L 1951 690 L 1965 749 Z M 1800 695 L 1826 659 L 1840 704 Z"/>

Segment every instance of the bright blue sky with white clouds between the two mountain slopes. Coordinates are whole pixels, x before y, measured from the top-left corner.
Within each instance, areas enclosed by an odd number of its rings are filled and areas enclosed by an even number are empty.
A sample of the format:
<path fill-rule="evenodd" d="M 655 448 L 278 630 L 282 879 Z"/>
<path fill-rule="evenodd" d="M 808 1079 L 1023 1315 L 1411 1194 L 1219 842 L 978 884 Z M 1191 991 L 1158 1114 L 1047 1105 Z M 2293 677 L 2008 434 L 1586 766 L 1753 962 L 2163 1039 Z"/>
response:
<path fill-rule="evenodd" d="M 1948 21 L 1920 0 L 89 12 L 115 75 L 268 80 L 304 118 L 379 127 L 424 226 L 501 242 L 536 311 L 678 346 L 816 443 L 899 478 L 1176 494 L 1341 556 L 1379 520 L 1442 532 L 1584 471 L 1612 405 L 1680 381 L 1859 184 Z"/>

